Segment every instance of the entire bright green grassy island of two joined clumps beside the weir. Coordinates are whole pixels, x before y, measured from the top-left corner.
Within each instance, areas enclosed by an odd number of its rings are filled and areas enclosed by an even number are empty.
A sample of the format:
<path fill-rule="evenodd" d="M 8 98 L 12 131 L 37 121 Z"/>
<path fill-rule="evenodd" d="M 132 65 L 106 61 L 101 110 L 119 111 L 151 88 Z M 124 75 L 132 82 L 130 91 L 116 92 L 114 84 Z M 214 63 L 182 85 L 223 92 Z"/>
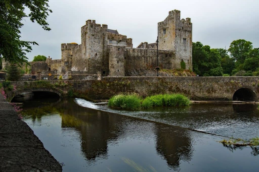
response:
<path fill-rule="evenodd" d="M 190 104 L 190 99 L 181 94 L 160 94 L 146 97 L 144 100 L 136 94 L 119 94 L 111 97 L 108 102 L 109 107 L 120 107 L 131 110 L 136 110 L 140 107 L 151 108 L 153 106 L 183 106 Z"/>

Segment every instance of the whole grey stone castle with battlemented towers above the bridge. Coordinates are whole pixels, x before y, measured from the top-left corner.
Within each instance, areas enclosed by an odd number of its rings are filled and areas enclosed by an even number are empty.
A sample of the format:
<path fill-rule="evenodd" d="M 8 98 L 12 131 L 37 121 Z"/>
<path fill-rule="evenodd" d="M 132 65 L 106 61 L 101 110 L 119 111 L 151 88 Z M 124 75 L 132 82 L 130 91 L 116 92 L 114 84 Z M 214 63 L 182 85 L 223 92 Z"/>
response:
<path fill-rule="evenodd" d="M 180 19 L 180 11 L 169 11 L 164 21 L 157 24 L 158 61 L 160 69 L 192 69 L 192 23 Z M 77 73 L 103 76 L 140 76 L 138 71 L 154 71 L 157 67 L 157 43 L 141 43 L 133 48 L 132 39 L 107 25 L 87 20 L 81 27 L 81 44 L 61 44 L 60 60 L 30 62 L 30 71 L 57 71 L 58 74 Z M 3 69 L 6 62 L 3 62 Z M 27 68 L 27 65 L 26 65 Z M 143 74 L 143 73 L 142 73 Z"/>

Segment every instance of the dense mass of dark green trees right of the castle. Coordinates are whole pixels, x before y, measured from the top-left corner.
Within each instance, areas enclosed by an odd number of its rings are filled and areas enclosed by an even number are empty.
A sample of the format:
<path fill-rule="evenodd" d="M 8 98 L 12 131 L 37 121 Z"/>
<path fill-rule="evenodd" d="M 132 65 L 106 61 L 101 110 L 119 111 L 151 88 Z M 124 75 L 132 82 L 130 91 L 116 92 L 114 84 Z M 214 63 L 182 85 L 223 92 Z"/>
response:
<path fill-rule="evenodd" d="M 259 76 L 259 48 L 246 40 L 233 41 L 228 50 L 192 43 L 192 61 L 199 76 Z"/>

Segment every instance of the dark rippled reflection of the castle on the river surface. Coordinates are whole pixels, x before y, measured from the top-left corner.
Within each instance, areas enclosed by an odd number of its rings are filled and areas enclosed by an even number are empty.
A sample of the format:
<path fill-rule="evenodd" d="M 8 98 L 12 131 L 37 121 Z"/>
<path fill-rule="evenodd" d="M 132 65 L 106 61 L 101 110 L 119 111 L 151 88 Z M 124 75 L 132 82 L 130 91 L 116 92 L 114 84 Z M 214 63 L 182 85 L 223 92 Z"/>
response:
<path fill-rule="evenodd" d="M 140 137 L 138 139 L 145 141 L 153 137 L 157 153 L 167 161 L 169 167 L 175 169 L 179 167 L 180 160 L 189 160 L 192 156 L 192 141 L 186 130 L 164 127 L 161 124 L 150 126 L 143 120 L 136 122 L 135 119 L 126 116 L 78 106 L 73 99 L 64 99 L 62 103 L 54 106 L 25 107 L 23 113 L 31 114 L 32 121 L 40 121 L 42 116 L 54 112 L 60 114 L 63 130 L 74 128 L 80 131 L 78 137 L 81 151 L 88 161 L 94 161 L 97 157 L 107 159 L 109 144 L 132 137 Z M 122 160 L 125 163 L 132 161 L 125 157 Z"/>

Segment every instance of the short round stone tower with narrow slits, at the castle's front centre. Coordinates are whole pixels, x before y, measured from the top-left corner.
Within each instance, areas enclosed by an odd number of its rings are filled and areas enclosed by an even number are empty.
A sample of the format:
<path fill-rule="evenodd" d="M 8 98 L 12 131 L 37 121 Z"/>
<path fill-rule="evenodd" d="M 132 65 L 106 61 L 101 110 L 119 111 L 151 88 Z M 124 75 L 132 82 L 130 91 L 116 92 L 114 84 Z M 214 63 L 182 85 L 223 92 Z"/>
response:
<path fill-rule="evenodd" d="M 112 45 L 109 47 L 110 76 L 125 76 L 124 57 L 125 46 Z"/>

